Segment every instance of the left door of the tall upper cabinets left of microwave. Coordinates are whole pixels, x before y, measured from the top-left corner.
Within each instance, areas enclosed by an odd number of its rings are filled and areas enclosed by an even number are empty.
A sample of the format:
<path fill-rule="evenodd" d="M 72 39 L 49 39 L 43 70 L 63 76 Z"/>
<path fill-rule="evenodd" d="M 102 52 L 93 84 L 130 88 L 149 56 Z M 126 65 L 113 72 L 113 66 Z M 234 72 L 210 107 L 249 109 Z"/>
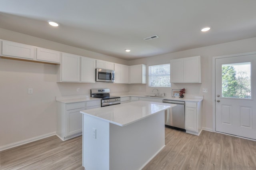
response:
<path fill-rule="evenodd" d="M 80 81 L 80 56 L 62 53 L 62 81 Z"/>

